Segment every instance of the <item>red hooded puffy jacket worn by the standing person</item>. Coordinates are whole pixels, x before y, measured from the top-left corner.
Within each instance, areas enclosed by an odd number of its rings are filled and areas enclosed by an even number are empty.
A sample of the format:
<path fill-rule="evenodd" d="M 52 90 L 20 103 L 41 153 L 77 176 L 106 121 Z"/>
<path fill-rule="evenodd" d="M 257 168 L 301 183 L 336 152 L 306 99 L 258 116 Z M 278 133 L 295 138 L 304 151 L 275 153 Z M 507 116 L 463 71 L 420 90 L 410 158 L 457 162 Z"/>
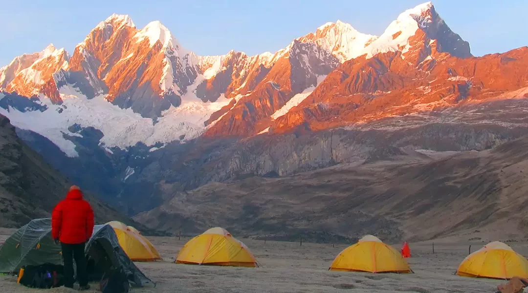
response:
<path fill-rule="evenodd" d="M 87 242 L 93 232 L 93 210 L 82 192 L 74 189 L 59 202 L 51 214 L 51 236 L 62 243 Z"/>

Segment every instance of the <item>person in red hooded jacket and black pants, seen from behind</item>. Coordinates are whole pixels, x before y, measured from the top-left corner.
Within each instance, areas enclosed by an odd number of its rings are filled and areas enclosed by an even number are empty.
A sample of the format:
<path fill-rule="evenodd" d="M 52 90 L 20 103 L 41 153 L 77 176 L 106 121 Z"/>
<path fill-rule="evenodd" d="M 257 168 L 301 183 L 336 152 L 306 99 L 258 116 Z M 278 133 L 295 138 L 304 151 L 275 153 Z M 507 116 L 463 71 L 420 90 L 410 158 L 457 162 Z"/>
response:
<path fill-rule="evenodd" d="M 73 288 L 73 259 L 77 263 L 77 279 L 81 290 L 90 289 L 86 279 L 84 245 L 93 232 L 93 210 L 82 199 L 82 191 L 72 185 L 66 199 L 59 202 L 51 214 L 51 235 L 61 245 L 64 262 L 64 286 Z"/>

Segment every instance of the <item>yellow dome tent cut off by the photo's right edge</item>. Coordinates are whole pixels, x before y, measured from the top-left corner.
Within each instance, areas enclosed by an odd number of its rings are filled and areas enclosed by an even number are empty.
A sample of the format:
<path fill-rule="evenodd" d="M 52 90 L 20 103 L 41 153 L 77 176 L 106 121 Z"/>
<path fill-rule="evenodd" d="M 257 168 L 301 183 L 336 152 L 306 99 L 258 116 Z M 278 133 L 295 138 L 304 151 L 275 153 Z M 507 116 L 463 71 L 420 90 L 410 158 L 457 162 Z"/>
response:
<path fill-rule="evenodd" d="M 460 263 L 457 275 L 492 279 L 528 278 L 528 260 L 511 247 L 495 241 L 468 255 Z"/>

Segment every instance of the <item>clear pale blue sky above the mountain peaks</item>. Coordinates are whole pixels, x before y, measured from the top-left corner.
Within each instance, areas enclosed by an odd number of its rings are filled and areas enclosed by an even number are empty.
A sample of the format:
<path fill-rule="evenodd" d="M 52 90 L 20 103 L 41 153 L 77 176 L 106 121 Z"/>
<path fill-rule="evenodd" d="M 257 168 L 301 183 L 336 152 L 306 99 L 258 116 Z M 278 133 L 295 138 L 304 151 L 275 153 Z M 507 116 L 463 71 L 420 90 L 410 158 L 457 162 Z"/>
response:
<path fill-rule="evenodd" d="M 231 49 L 275 52 L 294 38 L 341 19 L 380 35 L 401 12 L 423 0 L 0 0 L 0 66 L 53 43 L 70 54 L 112 13 L 129 14 L 138 28 L 159 20 L 182 46 L 201 55 Z M 328 4 L 327 4 L 328 3 Z M 528 45 L 527 0 L 437 0 L 438 13 L 474 55 Z"/>

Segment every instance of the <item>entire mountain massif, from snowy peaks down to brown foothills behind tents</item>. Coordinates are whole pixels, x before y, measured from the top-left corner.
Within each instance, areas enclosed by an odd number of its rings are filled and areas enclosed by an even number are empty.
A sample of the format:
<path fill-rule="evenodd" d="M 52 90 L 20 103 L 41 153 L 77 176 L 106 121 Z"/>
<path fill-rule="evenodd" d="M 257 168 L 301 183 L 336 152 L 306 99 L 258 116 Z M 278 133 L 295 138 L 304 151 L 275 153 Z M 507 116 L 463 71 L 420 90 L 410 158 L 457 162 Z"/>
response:
<path fill-rule="evenodd" d="M 72 55 L 50 45 L 2 67 L 0 114 L 149 229 L 526 237 L 526 68 L 528 47 L 473 56 L 430 2 L 380 36 L 337 21 L 254 56 L 199 56 L 113 14 Z"/>

